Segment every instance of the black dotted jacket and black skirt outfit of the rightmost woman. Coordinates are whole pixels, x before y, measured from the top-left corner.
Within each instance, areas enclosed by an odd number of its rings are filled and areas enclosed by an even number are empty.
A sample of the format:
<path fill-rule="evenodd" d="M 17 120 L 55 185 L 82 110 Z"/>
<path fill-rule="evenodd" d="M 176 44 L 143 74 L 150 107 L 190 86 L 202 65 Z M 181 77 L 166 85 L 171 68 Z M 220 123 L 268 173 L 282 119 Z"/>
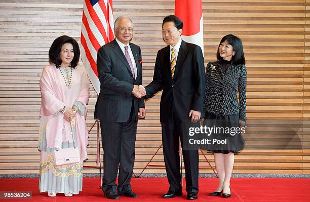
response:
<path fill-rule="evenodd" d="M 246 85 L 247 69 L 244 64 L 234 65 L 225 60 L 209 62 L 206 68 L 204 122 L 213 121 L 229 127 L 239 127 L 239 119 L 246 121 Z M 229 138 L 227 144 L 219 144 L 215 148 L 213 145 L 210 148 L 207 146 L 207 150 L 215 153 L 238 152 L 244 148 L 244 139 L 239 133 L 234 138 Z"/>

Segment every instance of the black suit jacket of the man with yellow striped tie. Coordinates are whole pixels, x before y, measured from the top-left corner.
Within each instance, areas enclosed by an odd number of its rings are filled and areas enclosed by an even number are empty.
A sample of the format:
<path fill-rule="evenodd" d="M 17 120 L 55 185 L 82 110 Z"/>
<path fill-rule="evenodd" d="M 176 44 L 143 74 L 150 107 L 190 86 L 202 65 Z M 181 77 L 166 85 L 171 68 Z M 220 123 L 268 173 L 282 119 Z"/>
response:
<path fill-rule="evenodd" d="M 201 48 L 182 41 L 172 79 L 170 46 L 157 53 L 153 81 L 146 86 L 146 98 L 163 89 L 160 119 L 167 122 L 172 102 L 181 119 L 190 119 L 189 111 L 203 111 L 205 89 L 204 57 Z"/>

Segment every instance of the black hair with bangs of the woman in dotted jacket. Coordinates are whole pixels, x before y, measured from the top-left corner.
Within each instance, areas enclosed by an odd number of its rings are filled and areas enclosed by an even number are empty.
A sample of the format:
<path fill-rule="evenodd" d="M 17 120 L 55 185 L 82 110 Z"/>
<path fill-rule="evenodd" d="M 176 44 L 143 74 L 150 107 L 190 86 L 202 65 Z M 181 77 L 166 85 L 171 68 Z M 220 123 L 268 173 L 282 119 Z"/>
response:
<path fill-rule="evenodd" d="M 222 38 L 222 40 L 221 40 L 221 42 L 217 48 L 216 58 L 218 60 L 223 59 L 220 56 L 219 47 L 220 47 L 221 43 L 223 43 L 225 41 L 227 42 L 227 44 L 231 45 L 232 48 L 234 48 L 234 51 L 236 52 L 236 54 L 234 56 L 232 56 L 232 59 L 231 59 L 232 63 L 234 63 L 234 64 L 245 64 L 242 41 L 240 38 L 238 38 L 237 36 L 232 35 L 232 34 L 228 34 Z"/>

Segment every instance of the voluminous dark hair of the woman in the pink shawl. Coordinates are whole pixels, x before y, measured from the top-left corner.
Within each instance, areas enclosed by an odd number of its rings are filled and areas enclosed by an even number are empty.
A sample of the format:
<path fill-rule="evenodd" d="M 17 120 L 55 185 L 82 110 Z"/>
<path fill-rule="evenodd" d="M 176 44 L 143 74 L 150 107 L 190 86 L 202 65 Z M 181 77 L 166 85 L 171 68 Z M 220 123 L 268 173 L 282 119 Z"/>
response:
<path fill-rule="evenodd" d="M 61 65 L 60 51 L 64 44 L 72 44 L 74 56 L 71 61 L 71 67 L 74 68 L 78 65 L 80 60 L 80 48 L 78 42 L 76 42 L 74 38 L 66 35 L 59 36 L 53 42 L 49 51 L 49 62 L 50 64 L 54 63 L 57 68 Z"/>

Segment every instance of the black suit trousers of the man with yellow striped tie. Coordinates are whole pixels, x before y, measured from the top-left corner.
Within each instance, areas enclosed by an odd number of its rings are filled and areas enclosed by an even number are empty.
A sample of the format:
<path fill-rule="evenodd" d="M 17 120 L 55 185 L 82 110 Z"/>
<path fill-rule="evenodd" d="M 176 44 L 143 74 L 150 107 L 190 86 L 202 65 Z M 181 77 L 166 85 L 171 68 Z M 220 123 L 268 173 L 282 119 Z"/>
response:
<path fill-rule="evenodd" d="M 189 113 L 189 112 L 188 112 Z M 162 123 L 164 160 L 169 182 L 169 191 L 181 189 L 179 137 L 183 145 L 183 120 L 181 120 L 172 104 L 168 121 Z M 185 166 L 186 191 L 198 193 L 198 150 L 182 150 Z"/>

